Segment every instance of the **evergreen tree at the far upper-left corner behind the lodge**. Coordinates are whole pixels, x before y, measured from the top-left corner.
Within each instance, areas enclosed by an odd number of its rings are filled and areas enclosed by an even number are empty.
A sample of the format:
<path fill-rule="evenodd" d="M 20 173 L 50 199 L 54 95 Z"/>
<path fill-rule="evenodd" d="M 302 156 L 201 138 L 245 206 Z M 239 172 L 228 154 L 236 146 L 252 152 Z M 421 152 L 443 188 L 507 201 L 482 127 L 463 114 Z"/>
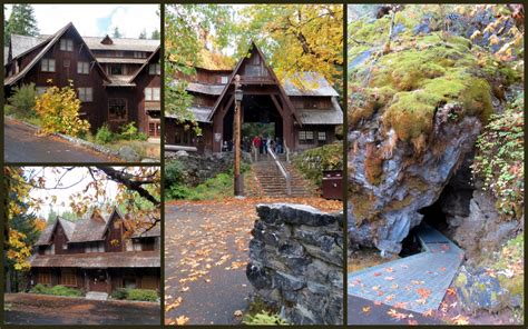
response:
<path fill-rule="evenodd" d="M 11 14 L 3 28 L 4 42 L 9 40 L 10 34 L 37 36 L 39 29 L 37 27 L 37 19 L 35 18 L 31 4 L 13 4 Z"/>

